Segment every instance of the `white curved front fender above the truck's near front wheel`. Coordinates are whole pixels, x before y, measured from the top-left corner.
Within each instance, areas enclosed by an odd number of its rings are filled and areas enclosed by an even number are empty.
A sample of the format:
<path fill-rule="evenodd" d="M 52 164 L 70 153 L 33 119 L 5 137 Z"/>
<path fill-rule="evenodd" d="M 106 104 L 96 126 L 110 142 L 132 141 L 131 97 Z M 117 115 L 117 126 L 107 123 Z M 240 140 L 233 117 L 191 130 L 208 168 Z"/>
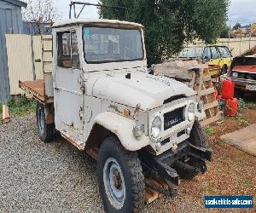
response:
<path fill-rule="evenodd" d="M 146 135 L 143 135 L 140 140 L 135 138 L 132 130 L 136 124 L 130 118 L 125 118 L 113 112 L 102 112 L 96 116 L 95 123 L 117 135 L 126 150 L 137 151 L 150 143 L 150 139 Z"/>

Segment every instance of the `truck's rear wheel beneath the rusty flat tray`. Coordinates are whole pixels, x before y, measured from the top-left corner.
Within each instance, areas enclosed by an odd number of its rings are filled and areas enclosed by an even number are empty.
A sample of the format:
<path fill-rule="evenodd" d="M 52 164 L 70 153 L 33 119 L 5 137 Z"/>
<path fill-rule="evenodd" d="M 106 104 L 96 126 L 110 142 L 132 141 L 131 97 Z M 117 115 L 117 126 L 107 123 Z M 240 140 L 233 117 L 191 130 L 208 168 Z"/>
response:
<path fill-rule="evenodd" d="M 37 124 L 41 141 L 51 141 L 54 135 L 55 127 L 54 124 L 46 124 L 44 105 L 40 102 L 37 103 Z"/>

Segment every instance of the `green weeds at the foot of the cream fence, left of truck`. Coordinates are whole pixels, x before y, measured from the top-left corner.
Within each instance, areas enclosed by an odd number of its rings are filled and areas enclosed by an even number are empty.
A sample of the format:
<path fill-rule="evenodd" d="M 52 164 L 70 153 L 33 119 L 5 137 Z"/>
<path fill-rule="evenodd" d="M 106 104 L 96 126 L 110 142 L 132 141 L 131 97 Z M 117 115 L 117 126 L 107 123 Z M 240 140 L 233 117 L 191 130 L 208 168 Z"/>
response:
<path fill-rule="evenodd" d="M 20 101 L 11 99 L 8 101 L 9 113 L 13 117 L 19 117 L 31 114 L 36 111 L 36 101 L 21 96 Z M 0 116 L 2 119 L 3 107 L 0 105 Z"/>

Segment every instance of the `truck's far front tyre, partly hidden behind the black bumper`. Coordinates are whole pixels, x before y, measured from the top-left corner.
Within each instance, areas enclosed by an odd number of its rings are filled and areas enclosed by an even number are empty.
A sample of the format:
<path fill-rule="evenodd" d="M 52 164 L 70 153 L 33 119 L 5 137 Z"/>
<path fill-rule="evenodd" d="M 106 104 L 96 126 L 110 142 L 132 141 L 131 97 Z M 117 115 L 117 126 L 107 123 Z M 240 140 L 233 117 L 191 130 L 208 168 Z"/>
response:
<path fill-rule="evenodd" d="M 201 124 L 195 121 L 190 133 L 189 142 L 196 147 L 207 147 L 204 130 L 201 128 Z M 204 167 L 203 170 L 207 170 L 205 162 L 200 161 L 194 157 L 187 157 L 182 160 L 182 163 L 195 166 L 196 168 Z M 198 175 L 199 171 L 184 169 L 185 167 L 177 167 L 177 174 L 183 179 L 193 179 Z"/>

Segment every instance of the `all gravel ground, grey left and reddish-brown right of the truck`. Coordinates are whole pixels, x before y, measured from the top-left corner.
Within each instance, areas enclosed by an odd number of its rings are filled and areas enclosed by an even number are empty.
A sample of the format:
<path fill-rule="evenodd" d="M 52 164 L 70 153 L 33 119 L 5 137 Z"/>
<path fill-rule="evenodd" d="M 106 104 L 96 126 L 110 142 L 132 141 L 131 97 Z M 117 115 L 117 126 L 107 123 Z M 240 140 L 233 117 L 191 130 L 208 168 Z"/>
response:
<path fill-rule="evenodd" d="M 217 160 L 207 174 L 182 181 L 176 199 L 158 199 L 143 212 L 206 212 L 205 194 L 255 196 L 256 158 L 218 141 L 210 145 Z M 0 212 L 103 211 L 96 162 L 60 136 L 42 143 L 33 116 L 0 124 L 0 180 Z"/>

